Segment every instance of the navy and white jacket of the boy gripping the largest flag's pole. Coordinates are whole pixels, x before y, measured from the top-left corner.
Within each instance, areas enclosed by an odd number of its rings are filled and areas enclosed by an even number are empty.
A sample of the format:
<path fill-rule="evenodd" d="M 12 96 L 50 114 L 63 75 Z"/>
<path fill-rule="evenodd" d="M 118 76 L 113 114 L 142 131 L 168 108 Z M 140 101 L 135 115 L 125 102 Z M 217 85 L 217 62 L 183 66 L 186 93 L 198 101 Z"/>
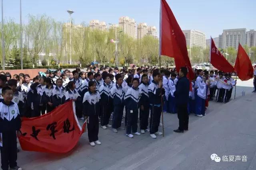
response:
<path fill-rule="evenodd" d="M 165 91 L 164 89 L 158 88 L 158 83 L 156 83 L 154 80 L 152 83 L 148 86 L 148 96 L 149 96 L 149 103 L 150 105 L 154 106 L 161 106 L 161 90 L 162 95 L 164 95 Z"/>

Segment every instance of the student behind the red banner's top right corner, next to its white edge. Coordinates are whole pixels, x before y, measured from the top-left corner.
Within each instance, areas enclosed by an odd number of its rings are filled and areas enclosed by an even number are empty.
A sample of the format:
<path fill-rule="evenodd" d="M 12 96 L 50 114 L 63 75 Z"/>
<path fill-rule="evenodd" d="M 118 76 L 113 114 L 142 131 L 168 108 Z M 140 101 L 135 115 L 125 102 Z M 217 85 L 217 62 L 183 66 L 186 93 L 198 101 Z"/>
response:
<path fill-rule="evenodd" d="M 78 119 L 84 120 L 84 117 L 82 117 L 82 114 L 80 113 L 82 111 L 82 97 L 80 96 L 78 91 L 76 91 L 76 84 L 74 83 L 74 81 L 68 82 L 67 88 L 68 90 L 65 93 L 66 101 L 73 100 L 75 102 L 76 117 L 78 117 Z"/>

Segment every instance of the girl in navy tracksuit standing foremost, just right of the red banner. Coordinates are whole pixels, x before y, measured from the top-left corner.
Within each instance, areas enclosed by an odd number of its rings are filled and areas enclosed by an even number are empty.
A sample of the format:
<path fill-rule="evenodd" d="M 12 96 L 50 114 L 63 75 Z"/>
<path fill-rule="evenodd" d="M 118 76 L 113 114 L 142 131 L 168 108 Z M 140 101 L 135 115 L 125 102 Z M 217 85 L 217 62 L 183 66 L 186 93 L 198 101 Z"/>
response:
<path fill-rule="evenodd" d="M 96 91 L 96 83 L 88 83 L 88 91 L 84 94 L 83 114 L 87 119 L 88 138 L 91 146 L 101 144 L 98 139 L 99 114 L 100 114 L 100 94 Z"/>

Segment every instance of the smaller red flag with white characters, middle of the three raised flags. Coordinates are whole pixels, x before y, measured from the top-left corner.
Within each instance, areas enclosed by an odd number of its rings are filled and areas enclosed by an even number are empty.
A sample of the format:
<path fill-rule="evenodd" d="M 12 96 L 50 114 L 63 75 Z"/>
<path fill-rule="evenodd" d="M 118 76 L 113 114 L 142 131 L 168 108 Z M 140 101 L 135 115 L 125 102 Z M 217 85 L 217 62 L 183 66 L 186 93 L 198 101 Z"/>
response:
<path fill-rule="evenodd" d="M 210 62 L 216 69 L 220 71 L 224 71 L 226 73 L 231 73 L 232 71 L 234 71 L 232 65 L 225 59 L 222 53 L 218 50 L 213 40 L 211 41 Z"/>

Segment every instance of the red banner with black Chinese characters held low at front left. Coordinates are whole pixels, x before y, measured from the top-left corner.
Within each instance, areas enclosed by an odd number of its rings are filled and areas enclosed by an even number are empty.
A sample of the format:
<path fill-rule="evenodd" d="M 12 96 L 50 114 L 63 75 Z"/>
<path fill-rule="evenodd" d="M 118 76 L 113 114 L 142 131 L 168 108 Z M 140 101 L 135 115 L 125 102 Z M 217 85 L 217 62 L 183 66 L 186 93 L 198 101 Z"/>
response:
<path fill-rule="evenodd" d="M 24 118 L 20 146 L 28 151 L 66 153 L 76 146 L 85 126 L 79 125 L 75 104 L 68 101 L 40 117 Z"/>

